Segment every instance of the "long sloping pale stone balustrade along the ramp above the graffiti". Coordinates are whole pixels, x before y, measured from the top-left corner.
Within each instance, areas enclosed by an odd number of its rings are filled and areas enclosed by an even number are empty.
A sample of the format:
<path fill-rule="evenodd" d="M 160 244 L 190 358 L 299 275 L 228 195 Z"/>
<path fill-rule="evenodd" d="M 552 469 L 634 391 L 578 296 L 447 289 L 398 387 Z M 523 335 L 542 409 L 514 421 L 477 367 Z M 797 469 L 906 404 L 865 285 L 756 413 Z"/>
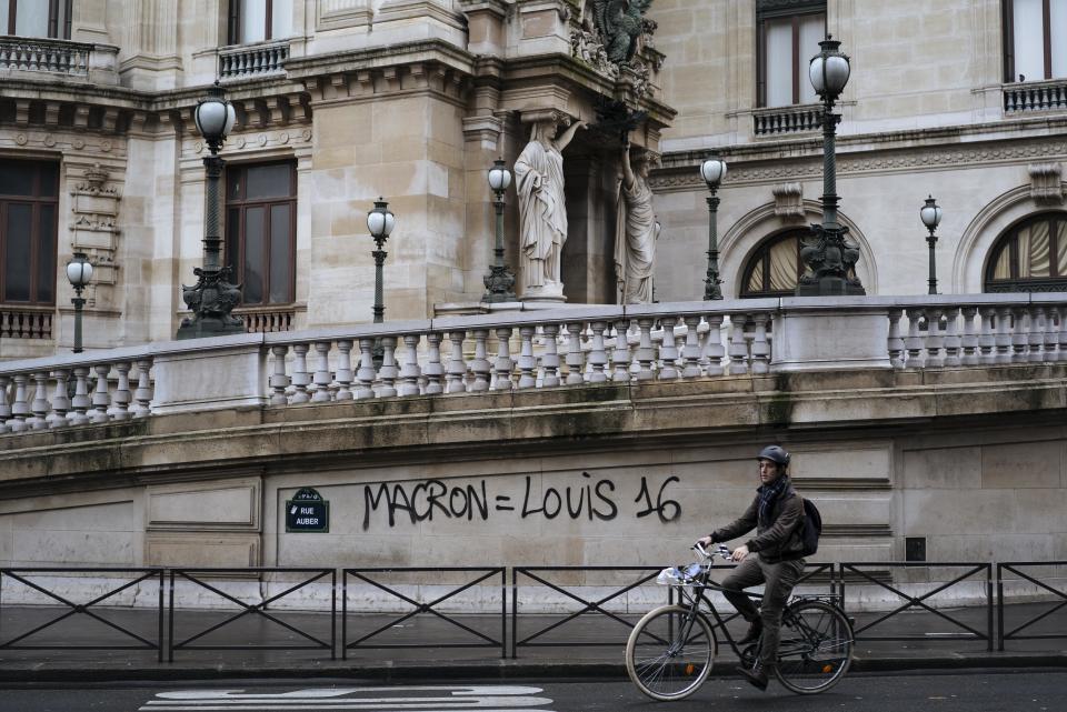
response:
<path fill-rule="evenodd" d="M 232 407 L 229 395 L 208 390 L 197 400 L 187 392 L 196 387 L 188 364 L 211 372 L 216 350 L 220 359 L 248 354 L 246 363 L 259 364 L 258 371 L 251 367 L 241 374 L 248 382 L 242 388 L 250 391 L 239 397 L 271 407 L 755 377 L 796 365 L 795 357 L 776 361 L 778 348 L 788 344 L 781 340 L 789 338 L 787 330 L 779 333 L 787 323 L 779 319 L 788 320 L 792 310 L 801 313 L 808 303 L 587 307 L 233 337 L 236 345 L 220 340 L 193 361 L 190 345 L 174 342 L 7 362 L 0 363 L 0 433 L 173 412 L 173 407 L 157 411 L 158 378 L 166 404 Z M 881 331 L 887 338 L 872 347 L 882 349 L 880 365 L 850 365 L 845 359 L 841 368 L 937 370 L 1067 361 L 1067 300 L 1057 301 L 1055 294 L 871 298 L 821 309 L 820 319 L 839 313 L 842 323 L 857 314 L 872 320 L 865 323 L 888 320 Z M 839 344 L 826 339 L 814 350 L 810 343 L 806 348 L 800 368 L 806 368 L 805 359 L 826 368 L 834 365 Z M 162 371 L 161 363 L 167 364 Z M 168 371 L 173 363 L 187 364 L 186 370 Z M 238 371 L 232 374 L 238 378 Z"/>

